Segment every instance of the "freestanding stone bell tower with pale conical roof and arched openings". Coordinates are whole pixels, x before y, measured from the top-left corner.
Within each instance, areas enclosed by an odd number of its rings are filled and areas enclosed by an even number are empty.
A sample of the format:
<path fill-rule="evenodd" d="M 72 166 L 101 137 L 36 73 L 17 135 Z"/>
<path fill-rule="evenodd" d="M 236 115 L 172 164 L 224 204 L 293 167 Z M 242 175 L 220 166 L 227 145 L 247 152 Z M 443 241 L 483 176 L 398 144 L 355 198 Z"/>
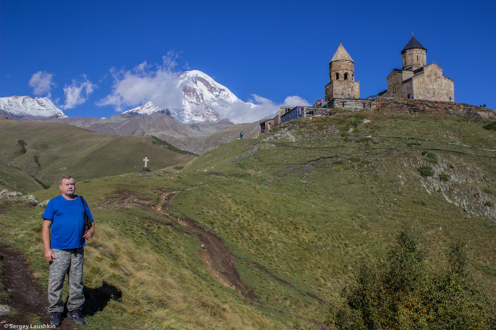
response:
<path fill-rule="evenodd" d="M 360 83 L 355 81 L 355 62 L 339 43 L 329 62 L 329 84 L 325 86 L 325 101 L 333 98 L 360 98 Z"/>

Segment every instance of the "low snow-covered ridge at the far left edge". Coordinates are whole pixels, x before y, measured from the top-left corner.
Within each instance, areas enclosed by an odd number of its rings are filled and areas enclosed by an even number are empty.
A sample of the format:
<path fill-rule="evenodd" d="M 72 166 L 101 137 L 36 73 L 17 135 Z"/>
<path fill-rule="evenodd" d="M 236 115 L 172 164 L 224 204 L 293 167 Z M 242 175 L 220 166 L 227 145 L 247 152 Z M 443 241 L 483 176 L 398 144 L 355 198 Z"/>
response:
<path fill-rule="evenodd" d="M 8 119 L 67 118 L 61 109 L 47 97 L 7 96 L 0 97 L 0 113 Z M 32 119 L 32 118 L 30 118 Z"/>

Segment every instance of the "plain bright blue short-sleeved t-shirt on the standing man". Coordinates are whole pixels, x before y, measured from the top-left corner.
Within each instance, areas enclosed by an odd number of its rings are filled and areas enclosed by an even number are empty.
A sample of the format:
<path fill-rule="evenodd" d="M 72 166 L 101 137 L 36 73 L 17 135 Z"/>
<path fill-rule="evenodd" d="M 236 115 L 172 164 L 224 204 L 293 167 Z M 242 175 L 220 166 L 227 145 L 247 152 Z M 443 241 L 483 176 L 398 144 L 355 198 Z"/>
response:
<path fill-rule="evenodd" d="M 90 208 L 84 201 L 86 214 L 93 222 Z M 50 247 L 74 249 L 86 246 L 84 243 L 84 208 L 81 198 L 67 200 L 62 195 L 52 198 L 43 213 L 43 219 L 52 221 Z"/>

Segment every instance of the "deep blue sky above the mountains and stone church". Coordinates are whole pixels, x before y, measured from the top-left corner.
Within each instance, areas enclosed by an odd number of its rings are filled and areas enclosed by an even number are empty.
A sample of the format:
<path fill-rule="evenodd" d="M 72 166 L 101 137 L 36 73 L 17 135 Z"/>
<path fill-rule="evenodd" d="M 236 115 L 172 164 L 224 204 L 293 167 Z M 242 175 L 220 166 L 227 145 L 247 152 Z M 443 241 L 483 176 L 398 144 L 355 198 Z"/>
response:
<path fill-rule="evenodd" d="M 97 105 L 112 93 L 109 70 L 161 64 L 170 51 L 179 54 L 176 70 L 203 71 L 244 101 L 298 95 L 313 103 L 324 96 L 342 41 L 367 97 L 401 68 L 412 31 L 427 62 L 455 81 L 457 102 L 496 108 L 495 1 L 0 3 L 0 96 L 46 96 L 50 88 L 71 117 L 115 114 Z M 30 86 L 39 71 L 53 84 Z M 64 98 L 64 87 L 79 88 L 80 98 Z"/>

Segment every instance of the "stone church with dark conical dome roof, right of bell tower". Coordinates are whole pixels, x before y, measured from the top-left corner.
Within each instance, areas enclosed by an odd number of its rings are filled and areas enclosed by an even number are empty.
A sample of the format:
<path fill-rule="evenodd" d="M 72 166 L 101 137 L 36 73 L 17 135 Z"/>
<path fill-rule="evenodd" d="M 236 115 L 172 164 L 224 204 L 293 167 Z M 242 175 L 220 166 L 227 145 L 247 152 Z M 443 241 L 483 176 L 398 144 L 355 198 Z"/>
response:
<path fill-rule="evenodd" d="M 442 74 L 436 63 L 427 64 L 427 48 L 412 36 L 401 50 L 402 69 L 393 69 L 387 76 L 387 90 L 380 97 L 455 101 L 455 82 Z M 450 99 L 451 97 L 451 99 Z"/>

